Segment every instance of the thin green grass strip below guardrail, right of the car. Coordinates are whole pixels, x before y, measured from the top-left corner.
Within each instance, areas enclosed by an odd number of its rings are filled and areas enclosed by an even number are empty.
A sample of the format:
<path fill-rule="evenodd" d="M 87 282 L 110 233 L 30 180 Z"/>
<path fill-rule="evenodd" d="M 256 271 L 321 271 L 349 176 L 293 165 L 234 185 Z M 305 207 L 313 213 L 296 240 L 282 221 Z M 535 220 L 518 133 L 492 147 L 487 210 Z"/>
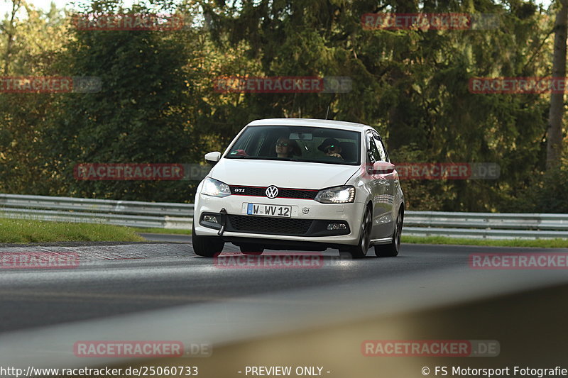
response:
<path fill-rule="evenodd" d="M 427 236 L 427 237 L 407 236 L 403 234 L 402 242 L 411 243 L 411 244 L 486 245 L 490 247 L 568 248 L 568 239 L 539 239 L 539 240 L 461 239 L 461 238 L 444 238 L 443 236 Z"/>

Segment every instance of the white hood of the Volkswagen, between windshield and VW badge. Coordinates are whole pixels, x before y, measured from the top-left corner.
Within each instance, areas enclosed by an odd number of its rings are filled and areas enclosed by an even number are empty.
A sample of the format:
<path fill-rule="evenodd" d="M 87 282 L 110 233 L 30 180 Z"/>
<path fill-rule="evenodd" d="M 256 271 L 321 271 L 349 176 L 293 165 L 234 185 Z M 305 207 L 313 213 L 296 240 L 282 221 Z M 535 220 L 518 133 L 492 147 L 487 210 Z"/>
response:
<path fill-rule="evenodd" d="M 221 159 L 208 176 L 229 185 L 323 189 L 345 184 L 358 170 L 359 165 Z"/>

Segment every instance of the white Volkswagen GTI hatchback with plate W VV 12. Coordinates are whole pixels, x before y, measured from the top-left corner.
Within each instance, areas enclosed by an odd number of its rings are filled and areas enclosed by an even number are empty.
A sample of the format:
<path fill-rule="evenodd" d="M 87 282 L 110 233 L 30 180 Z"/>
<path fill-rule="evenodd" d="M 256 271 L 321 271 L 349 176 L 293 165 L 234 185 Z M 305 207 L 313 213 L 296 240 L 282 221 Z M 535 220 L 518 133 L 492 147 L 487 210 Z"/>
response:
<path fill-rule="evenodd" d="M 375 129 L 316 119 L 263 119 L 229 148 L 209 152 L 197 187 L 193 250 L 213 257 L 224 243 L 259 255 L 337 248 L 396 256 L 404 196 Z"/>

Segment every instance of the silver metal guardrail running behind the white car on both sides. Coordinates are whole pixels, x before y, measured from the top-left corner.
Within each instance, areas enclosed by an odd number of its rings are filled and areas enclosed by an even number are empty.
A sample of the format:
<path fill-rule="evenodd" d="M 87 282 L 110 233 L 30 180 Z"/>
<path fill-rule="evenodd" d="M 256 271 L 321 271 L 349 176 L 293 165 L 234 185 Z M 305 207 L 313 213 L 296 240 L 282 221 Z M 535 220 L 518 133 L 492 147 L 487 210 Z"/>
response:
<path fill-rule="evenodd" d="M 0 216 L 190 230 L 193 204 L 0 194 Z M 403 235 L 568 238 L 568 214 L 406 211 Z"/>

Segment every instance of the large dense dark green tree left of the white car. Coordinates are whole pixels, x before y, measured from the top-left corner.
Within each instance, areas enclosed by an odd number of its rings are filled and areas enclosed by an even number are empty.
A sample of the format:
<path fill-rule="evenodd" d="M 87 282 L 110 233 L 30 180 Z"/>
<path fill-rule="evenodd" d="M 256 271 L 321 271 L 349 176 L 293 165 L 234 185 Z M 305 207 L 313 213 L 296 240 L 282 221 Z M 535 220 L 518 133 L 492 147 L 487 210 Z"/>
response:
<path fill-rule="evenodd" d="M 148 14 L 117 1 L 85 13 Z M 81 163 L 185 163 L 199 135 L 190 132 L 187 30 L 71 30 L 58 57 L 65 76 L 96 77 L 97 93 L 60 96 L 42 140 L 59 194 L 141 201 L 190 198 L 188 182 L 78 181 Z"/>

